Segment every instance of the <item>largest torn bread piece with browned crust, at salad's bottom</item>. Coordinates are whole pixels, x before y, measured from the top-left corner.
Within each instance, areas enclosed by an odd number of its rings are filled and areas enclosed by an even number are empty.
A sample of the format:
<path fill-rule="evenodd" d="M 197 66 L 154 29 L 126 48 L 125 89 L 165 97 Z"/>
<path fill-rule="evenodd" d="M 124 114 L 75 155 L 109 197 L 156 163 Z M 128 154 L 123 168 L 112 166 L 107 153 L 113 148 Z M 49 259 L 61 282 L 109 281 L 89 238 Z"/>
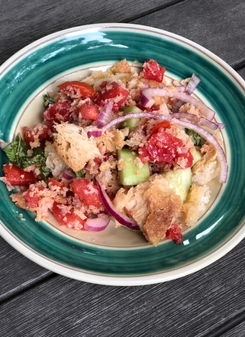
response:
<path fill-rule="evenodd" d="M 114 205 L 129 215 L 146 239 L 156 246 L 180 215 L 182 201 L 170 189 L 167 180 L 155 174 L 145 183 L 131 187 L 127 193 L 121 188 L 114 198 Z"/>

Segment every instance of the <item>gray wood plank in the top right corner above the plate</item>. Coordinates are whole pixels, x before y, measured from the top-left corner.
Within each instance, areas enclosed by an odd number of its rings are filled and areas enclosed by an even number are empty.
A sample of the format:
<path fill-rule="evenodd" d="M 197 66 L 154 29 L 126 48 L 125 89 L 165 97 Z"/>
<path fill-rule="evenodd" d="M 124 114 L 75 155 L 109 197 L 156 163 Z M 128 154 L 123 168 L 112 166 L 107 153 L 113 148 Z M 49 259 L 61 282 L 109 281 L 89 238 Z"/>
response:
<path fill-rule="evenodd" d="M 184 36 L 227 63 L 244 59 L 245 2 L 192 0 L 147 15 L 133 23 Z"/>

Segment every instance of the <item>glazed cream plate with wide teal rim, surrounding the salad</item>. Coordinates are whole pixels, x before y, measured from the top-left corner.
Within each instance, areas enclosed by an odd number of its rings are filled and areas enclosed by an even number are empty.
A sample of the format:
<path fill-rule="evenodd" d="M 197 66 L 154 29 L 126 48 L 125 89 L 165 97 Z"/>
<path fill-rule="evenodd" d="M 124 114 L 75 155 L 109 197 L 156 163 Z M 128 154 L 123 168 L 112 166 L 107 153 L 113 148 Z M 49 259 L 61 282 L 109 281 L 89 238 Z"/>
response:
<path fill-rule="evenodd" d="M 243 79 L 200 45 L 152 27 L 108 23 L 66 29 L 31 43 L 0 67 L 0 137 L 13 139 L 23 126 L 26 106 L 56 79 L 124 58 L 140 63 L 155 59 L 166 67 L 170 78 L 184 79 L 195 72 L 201 78 L 198 97 L 216 111 L 218 121 L 226 124 L 222 137 L 228 179 L 218 188 L 205 216 L 184 232 L 182 245 L 164 240 L 157 247 L 130 246 L 133 234 L 124 228 L 120 230 L 125 240 L 127 235 L 130 238 L 128 245 L 117 245 L 120 238 L 114 237 L 112 245 L 102 245 L 64 233 L 52 223 L 35 222 L 33 214 L 9 200 L 11 192 L 0 182 L 0 234 L 23 255 L 61 275 L 99 284 L 140 285 L 195 272 L 226 254 L 245 236 Z M 5 162 L 1 152 L 0 167 Z"/>

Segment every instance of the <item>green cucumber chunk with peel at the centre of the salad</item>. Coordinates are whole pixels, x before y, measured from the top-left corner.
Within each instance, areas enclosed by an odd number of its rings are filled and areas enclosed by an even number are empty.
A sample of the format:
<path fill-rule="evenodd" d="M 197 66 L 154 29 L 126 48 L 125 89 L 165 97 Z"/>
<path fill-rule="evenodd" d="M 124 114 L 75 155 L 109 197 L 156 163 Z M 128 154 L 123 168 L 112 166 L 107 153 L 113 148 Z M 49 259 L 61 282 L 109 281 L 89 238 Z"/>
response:
<path fill-rule="evenodd" d="M 148 163 L 139 168 L 134 164 L 138 154 L 130 149 L 117 150 L 117 159 L 123 160 L 124 168 L 118 171 L 119 181 L 122 185 L 137 185 L 146 181 L 150 176 Z"/>

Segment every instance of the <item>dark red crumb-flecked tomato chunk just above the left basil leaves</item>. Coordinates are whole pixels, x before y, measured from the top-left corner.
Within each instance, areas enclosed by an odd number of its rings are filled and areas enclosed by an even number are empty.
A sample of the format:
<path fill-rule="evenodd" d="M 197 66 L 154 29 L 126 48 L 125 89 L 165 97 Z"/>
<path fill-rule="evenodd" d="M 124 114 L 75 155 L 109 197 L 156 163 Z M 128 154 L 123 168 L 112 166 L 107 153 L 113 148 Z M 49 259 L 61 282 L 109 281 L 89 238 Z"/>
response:
<path fill-rule="evenodd" d="M 35 124 L 32 128 L 28 126 L 23 126 L 22 128 L 24 141 L 26 145 L 30 148 L 30 143 L 34 143 L 35 138 L 40 142 L 40 146 L 45 146 L 45 141 L 52 140 L 52 125 L 38 123 Z"/>

